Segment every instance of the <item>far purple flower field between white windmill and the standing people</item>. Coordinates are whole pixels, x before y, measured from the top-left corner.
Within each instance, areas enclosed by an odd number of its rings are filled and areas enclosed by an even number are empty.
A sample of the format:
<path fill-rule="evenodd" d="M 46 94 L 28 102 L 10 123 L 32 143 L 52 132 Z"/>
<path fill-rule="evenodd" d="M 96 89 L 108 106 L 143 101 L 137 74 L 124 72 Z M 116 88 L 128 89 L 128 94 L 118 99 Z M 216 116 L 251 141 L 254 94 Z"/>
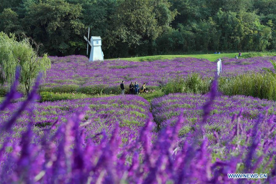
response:
<path fill-rule="evenodd" d="M 208 60 L 195 58 L 151 62 L 114 60 L 93 63 L 88 62 L 85 56 L 50 57 L 50 59 L 53 64 L 45 80 L 45 85 L 49 87 L 60 84 L 79 86 L 104 84 L 113 87 L 122 80 L 125 80 L 125 84 L 138 81 L 138 84 L 159 86 L 165 84 L 169 78 L 196 72 L 196 65 L 202 67 L 202 71 L 199 71 L 202 75 L 212 74 L 214 65 Z"/>

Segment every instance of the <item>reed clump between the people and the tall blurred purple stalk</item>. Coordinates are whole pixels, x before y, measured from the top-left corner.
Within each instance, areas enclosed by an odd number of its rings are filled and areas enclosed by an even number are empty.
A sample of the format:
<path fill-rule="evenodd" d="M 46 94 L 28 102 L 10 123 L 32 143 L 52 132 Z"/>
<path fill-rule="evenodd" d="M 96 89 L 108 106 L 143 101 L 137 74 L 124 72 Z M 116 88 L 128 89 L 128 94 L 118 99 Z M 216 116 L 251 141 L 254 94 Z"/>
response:
<path fill-rule="evenodd" d="M 161 89 L 165 94 L 169 93 L 207 93 L 210 86 L 209 79 L 203 79 L 198 74 L 192 74 L 186 78 L 177 78 L 169 81 Z"/>

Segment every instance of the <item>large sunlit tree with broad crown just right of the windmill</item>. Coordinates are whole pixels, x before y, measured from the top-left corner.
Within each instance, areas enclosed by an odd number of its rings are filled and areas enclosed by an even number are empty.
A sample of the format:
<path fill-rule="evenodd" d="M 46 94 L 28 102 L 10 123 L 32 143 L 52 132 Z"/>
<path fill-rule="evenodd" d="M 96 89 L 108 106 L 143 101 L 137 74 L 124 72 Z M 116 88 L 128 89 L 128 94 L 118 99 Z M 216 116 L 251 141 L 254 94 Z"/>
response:
<path fill-rule="evenodd" d="M 177 14 L 176 10 L 170 10 L 171 4 L 167 0 L 121 0 L 116 7 L 111 19 L 112 29 L 107 31 L 105 41 L 109 49 L 124 55 L 152 53 L 153 41 Z"/>

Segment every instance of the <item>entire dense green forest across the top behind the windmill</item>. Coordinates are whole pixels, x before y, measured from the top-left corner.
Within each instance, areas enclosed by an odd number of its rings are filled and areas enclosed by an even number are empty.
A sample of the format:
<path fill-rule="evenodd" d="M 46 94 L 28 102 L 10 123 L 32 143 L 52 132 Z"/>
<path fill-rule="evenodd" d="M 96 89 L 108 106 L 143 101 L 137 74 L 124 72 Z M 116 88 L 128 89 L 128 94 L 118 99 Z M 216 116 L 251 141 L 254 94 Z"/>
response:
<path fill-rule="evenodd" d="M 276 0 L 0 0 L 0 31 L 24 33 L 49 55 L 105 58 L 276 49 Z"/>

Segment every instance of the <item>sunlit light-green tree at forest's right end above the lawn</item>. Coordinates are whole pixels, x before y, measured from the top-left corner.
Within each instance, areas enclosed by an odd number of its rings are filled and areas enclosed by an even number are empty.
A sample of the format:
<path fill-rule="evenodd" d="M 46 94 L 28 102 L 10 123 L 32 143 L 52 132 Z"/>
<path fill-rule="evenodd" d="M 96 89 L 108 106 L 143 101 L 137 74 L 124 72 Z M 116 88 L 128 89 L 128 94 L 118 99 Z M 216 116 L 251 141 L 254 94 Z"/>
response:
<path fill-rule="evenodd" d="M 221 49 L 258 50 L 266 49 L 271 40 L 271 28 L 262 25 L 255 12 L 222 11 L 215 21 L 220 27 Z"/>

